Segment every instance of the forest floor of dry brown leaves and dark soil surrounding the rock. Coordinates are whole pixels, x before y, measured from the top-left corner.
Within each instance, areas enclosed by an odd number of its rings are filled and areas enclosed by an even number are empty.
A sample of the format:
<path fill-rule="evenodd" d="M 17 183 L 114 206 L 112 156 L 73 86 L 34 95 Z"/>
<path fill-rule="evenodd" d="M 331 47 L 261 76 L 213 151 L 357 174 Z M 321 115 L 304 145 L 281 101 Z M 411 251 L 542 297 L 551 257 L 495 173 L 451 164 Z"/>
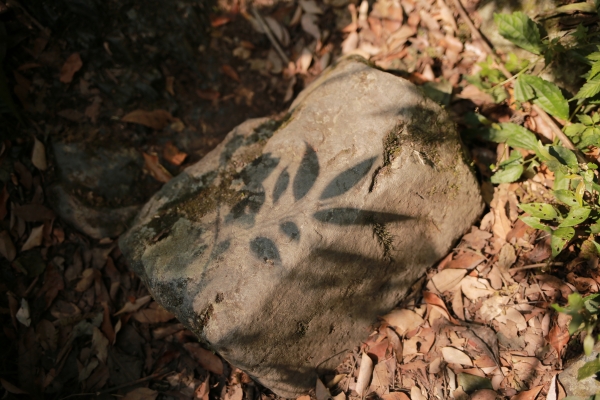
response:
<path fill-rule="evenodd" d="M 285 111 L 349 53 L 421 86 L 459 127 L 476 109 L 499 122 L 515 111 L 467 81 L 489 54 L 456 1 L 261 0 L 257 15 L 230 0 L 211 8 L 201 28 L 189 21 L 206 10 L 182 1 L 171 11 L 152 10 L 156 18 L 164 11 L 177 29 L 177 18 L 188 21 L 181 25 L 186 34 L 204 35 L 177 54 L 169 52 L 173 41 L 161 42 L 144 25 L 148 11 L 138 3 L 107 2 L 119 18 L 103 14 L 110 21 L 103 32 L 122 35 L 92 48 L 94 32 L 80 26 L 78 13 L 93 17 L 94 2 L 64 11 L 72 17 L 66 27 L 50 29 L 60 15 L 53 20 L 47 10 L 0 1 L 5 71 L 22 118 L 0 119 L 0 391 L 9 399 L 274 399 L 151 299 L 117 237 L 91 238 L 81 230 L 93 226 L 75 229 L 53 210 L 46 191 L 61 179 L 61 160 L 52 143 L 82 143 L 86 151 L 134 147 L 144 157 L 137 184 L 148 193 L 131 196 L 147 198 L 237 124 Z M 462 3 L 475 26 L 482 23 L 477 3 Z M 261 33 L 264 26 L 274 40 Z M 541 138 L 552 137 L 535 114 L 522 117 Z M 575 291 L 598 292 L 598 257 L 571 246 L 551 260 L 549 237 L 521 222 L 517 205 L 547 198 L 552 173 L 539 168 L 494 187 L 490 165 L 502 159 L 504 145 L 465 140 L 487 205 L 480 224 L 364 342 L 349 344 L 355 348 L 310 398 L 565 397 L 556 377 L 582 345 L 551 304 L 564 305 Z"/>

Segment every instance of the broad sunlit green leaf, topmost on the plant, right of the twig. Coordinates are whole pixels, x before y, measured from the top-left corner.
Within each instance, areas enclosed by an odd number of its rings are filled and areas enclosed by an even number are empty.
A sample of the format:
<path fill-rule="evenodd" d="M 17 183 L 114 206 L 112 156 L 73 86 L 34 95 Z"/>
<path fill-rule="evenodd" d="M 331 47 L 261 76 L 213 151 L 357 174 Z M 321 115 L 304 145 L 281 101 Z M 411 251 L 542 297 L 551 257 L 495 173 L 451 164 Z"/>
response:
<path fill-rule="evenodd" d="M 494 14 L 498 32 L 505 39 L 534 54 L 541 54 L 544 45 L 537 24 L 526 14 L 518 11 L 512 14 Z"/>

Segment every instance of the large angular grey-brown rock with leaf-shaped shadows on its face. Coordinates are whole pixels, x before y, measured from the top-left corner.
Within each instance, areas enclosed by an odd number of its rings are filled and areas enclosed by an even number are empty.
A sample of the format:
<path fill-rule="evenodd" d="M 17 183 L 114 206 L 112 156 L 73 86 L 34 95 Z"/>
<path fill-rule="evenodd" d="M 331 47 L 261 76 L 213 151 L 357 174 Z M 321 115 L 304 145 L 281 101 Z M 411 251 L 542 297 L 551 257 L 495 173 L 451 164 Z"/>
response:
<path fill-rule="evenodd" d="M 482 208 L 445 113 L 408 81 L 346 59 L 284 120 L 243 123 L 166 184 L 120 245 L 201 340 L 294 397 Z"/>

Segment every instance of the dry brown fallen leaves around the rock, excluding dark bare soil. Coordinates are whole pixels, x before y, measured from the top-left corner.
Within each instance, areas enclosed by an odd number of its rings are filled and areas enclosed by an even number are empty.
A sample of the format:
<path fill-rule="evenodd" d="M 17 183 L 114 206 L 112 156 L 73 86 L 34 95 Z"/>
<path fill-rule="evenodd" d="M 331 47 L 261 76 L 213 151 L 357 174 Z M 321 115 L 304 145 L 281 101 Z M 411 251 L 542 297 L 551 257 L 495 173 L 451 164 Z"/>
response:
<path fill-rule="evenodd" d="M 477 39 L 461 33 L 452 2 L 300 0 L 291 7 L 259 9 L 264 26 L 243 3 L 231 4 L 224 6 L 223 15 L 211 17 L 215 38 L 226 29 L 247 24 L 256 35 L 269 30 L 273 41 L 267 49 L 238 41 L 231 48 L 238 61 L 220 64 L 227 82 L 193 89 L 196 99 L 213 107 L 230 99 L 253 105 L 255 90 L 247 85 L 257 77 L 274 82 L 275 91 L 288 102 L 340 54 L 364 56 L 421 85 L 459 122 L 465 102 L 482 109 L 493 103 L 489 94 L 464 79 L 477 72 L 485 51 Z M 236 19 L 237 13 L 243 18 Z M 100 123 L 110 101 L 90 88 L 92 76 L 83 68 L 79 53 L 67 53 L 61 61 L 52 52 L 52 40 L 38 39 L 33 54 L 54 65 L 56 79 L 65 86 L 76 86 L 88 96 L 83 108 L 65 108 L 57 114 L 70 122 L 83 123 L 87 118 Z M 42 85 L 41 78 L 33 75 L 36 68 L 35 63 L 25 63 L 15 75 L 14 92 L 27 110 L 40 104 L 33 103 L 34 95 L 41 96 L 36 91 Z M 119 81 L 120 71 L 105 72 Z M 170 72 L 165 91 L 171 96 L 185 90 L 177 81 Z M 156 133 L 187 129 L 186 120 L 166 109 L 149 109 L 110 112 L 115 120 Z M 499 122 L 510 117 L 498 111 L 489 115 Z M 535 115 L 527 123 L 542 136 L 551 135 Z M 18 356 L 18 374 L 0 378 L 2 387 L 12 394 L 26 389 L 26 393 L 52 396 L 72 390 L 77 382 L 76 393 L 117 393 L 126 399 L 275 398 L 205 349 L 153 302 L 129 272 L 118 248 L 106 251 L 105 244 L 90 241 L 60 221 L 43 198 L 36 200 L 36 191 L 43 193 L 42 173 L 52 161 L 46 158 L 45 135 L 32 136 L 23 167 L 15 164 L 18 173 L 0 194 L 0 218 L 6 222 L 0 231 L 0 255 L 11 262 L 7 265 L 13 271 L 9 281 L 0 282 L 6 293 L 1 304 L 4 337 L 15 343 L 13 350 L 7 350 L 12 353 L 3 355 L 15 360 Z M 7 162 L 3 154 L 10 145 L 2 143 L 0 162 Z M 180 148 L 168 141 L 141 149 L 147 172 L 167 182 L 172 171 L 179 170 L 165 165 L 183 167 L 189 158 Z M 472 149 L 476 161 L 486 151 Z M 489 163 L 475 165 L 482 176 L 489 176 Z M 373 333 L 335 373 L 322 376 L 314 391 L 300 398 L 562 398 L 556 375 L 577 342 L 570 340 L 568 318 L 551 311 L 549 305 L 564 303 L 575 290 L 598 291 L 600 274 L 579 268 L 594 260 L 575 259 L 564 270 L 553 268 L 547 262 L 548 238 L 517 219 L 522 213 L 518 202 L 543 202 L 543 192 L 553 179 L 540 170 L 527 181 L 490 191 L 489 212 L 429 271 L 420 296 L 382 316 Z M 96 259 L 94 252 L 100 254 Z M 116 377 L 117 368 L 128 371 L 121 377 L 126 381 Z"/>

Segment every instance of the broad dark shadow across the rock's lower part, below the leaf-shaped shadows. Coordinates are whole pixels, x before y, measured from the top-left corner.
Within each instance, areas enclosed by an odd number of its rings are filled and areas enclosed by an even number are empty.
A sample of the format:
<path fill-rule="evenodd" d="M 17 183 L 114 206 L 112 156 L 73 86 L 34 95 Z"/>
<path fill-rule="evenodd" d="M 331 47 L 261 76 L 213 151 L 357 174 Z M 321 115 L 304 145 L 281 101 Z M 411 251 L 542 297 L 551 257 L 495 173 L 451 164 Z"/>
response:
<path fill-rule="evenodd" d="M 408 246 L 420 246 L 420 252 L 429 254 L 431 264 L 442 257 L 426 238 L 413 237 Z M 246 365 L 236 367 L 262 377 L 258 381 L 275 392 L 314 387 L 317 376 L 333 373 L 340 358 L 360 340 L 353 332 L 339 332 L 342 327 L 336 326 L 338 318 L 351 318 L 357 327 L 374 323 L 376 316 L 389 311 L 390 291 L 398 288 L 397 302 L 400 302 L 405 294 L 402 292 L 424 272 L 411 270 L 411 261 L 414 260 L 410 257 L 402 257 L 390 263 L 347 250 L 316 249 L 302 262 L 304 265 L 278 283 L 273 297 L 246 319 L 252 323 L 232 330 L 214 345 L 221 349 L 225 359 L 249 360 Z M 301 292 L 304 296 L 292 299 L 288 297 L 290 292 Z M 279 326 L 279 333 L 265 331 L 266 320 L 269 325 Z M 337 346 L 322 348 L 321 359 L 312 359 L 314 354 L 302 352 L 303 345 L 315 340 L 311 339 L 311 330 L 321 334 L 338 330 Z M 295 365 L 274 361 L 285 359 L 307 361 Z"/>

